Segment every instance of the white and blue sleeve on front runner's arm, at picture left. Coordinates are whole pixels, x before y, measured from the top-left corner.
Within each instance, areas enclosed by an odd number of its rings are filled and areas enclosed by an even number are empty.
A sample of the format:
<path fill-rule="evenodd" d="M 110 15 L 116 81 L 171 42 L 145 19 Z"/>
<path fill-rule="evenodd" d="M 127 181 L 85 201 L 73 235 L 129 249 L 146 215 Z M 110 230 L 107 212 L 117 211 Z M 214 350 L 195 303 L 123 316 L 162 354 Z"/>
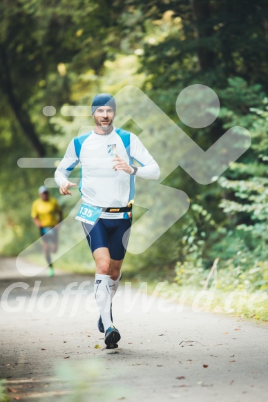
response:
<path fill-rule="evenodd" d="M 78 163 L 79 158 L 75 152 L 75 143 L 73 140 L 69 143 L 64 159 L 61 160 L 55 172 L 55 181 L 59 187 L 64 181 L 68 180 L 70 172 L 72 172 Z"/>

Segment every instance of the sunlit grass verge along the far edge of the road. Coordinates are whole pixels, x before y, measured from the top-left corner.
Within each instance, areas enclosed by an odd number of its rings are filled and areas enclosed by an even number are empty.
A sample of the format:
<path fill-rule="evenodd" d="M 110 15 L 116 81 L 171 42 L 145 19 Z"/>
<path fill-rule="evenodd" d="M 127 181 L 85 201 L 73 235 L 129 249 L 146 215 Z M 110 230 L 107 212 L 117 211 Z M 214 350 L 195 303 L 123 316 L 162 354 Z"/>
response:
<path fill-rule="evenodd" d="M 80 255 L 80 257 L 82 256 Z M 33 263 L 44 263 L 44 257 L 41 254 L 32 254 L 28 259 Z M 88 254 L 88 261 L 85 261 L 74 262 L 71 259 L 71 255 L 67 253 L 55 262 L 55 268 L 69 273 L 95 274 L 93 257 Z M 148 277 L 150 278 L 149 280 Z M 151 278 L 146 270 L 135 273 L 131 263 L 126 259 L 123 270 L 123 283 L 131 281 L 132 285 L 140 288 L 141 291 L 147 291 L 150 294 L 157 292 L 157 296 L 164 299 L 166 308 L 168 308 L 169 303 L 173 302 L 191 306 L 196 312 L 229 314 L 268 323 L 268 294 L 265 290 L 249 292 L 245 288 L 237 288 L 236 290 L 223 291 L 218 288 L 218 281 L 211 281 L 208 288 L 202 288 L 198 285 L 178 285 L 164 279 L 156 281 Z"/>

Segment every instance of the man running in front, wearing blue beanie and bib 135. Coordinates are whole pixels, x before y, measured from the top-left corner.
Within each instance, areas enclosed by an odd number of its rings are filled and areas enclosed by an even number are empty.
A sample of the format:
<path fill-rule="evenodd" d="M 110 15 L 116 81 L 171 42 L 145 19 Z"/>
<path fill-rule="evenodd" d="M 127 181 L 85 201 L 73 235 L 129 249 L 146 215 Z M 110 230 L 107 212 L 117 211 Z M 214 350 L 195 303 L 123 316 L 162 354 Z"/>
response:
<path fill-rule="evenodd" d="M 94 291 L 100 312 L 97 326 L 105 333 L 108 349 L 117 348 L 121 338 L 113 325 L 111 306 L 122 278 L 135 176 L 160 177 L 159 166 L 137 136 L 113 126 L 115 112 L 115 99 L 110 94 L 97 94 L 91 106 L 94 130 L 70 142 L 55 172 L 61 195 L 72 195 L 69 188 L 75 183 L 68 181 L 68 176 L 77 163 L 81 165 L 79 190 L 84 202 L 77 219 L 82 221 L 95 259 Z M 134 160 L 141 166 L 134 165 Z"/>

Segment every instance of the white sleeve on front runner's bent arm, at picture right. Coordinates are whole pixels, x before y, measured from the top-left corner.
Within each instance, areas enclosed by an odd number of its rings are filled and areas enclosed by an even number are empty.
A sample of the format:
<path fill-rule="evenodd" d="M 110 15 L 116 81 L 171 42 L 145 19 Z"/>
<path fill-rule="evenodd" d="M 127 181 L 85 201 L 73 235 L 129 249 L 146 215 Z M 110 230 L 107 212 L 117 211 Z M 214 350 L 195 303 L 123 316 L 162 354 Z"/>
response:
<path fill-rule="evenodd" d="M 137 168 L 136 176 L 143 179 L 159 179 L 160 167 L 155 162 L 149 151 L 144 147 L 142 141 L 138 137 L 131 133 L 131 157 L 140 163 L 140 167 Z"/>

